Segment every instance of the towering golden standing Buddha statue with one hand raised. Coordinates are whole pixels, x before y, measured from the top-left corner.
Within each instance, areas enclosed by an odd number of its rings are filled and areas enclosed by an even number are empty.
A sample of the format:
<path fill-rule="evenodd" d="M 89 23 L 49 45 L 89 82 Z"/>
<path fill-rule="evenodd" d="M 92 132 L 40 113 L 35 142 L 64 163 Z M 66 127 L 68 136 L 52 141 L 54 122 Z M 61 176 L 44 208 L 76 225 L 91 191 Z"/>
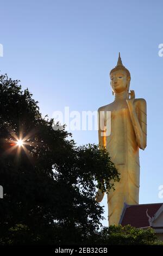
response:
<path fill-rule="evenodd" d="M 144 99 L 135 99 L 134 90 L 130 90 L 130 72 L 118 57 L 117 65 L 110 71 L 112 93 L 115 100 L 98 109 L 99 148 L 105 147 L 115 163 L 120 182 L 115 182 L 115 191 L 108 196 L 109 225 L 119 223 L 124 203 L 139 204 L 140 163 L 139 148 L 144 150 L 147 141 L 147 107 Z M 111 112 L 111 132 L 107 135 L 107 115 Z M 96 201 L 101 202 L 104 192 L 98 190 Z"/>

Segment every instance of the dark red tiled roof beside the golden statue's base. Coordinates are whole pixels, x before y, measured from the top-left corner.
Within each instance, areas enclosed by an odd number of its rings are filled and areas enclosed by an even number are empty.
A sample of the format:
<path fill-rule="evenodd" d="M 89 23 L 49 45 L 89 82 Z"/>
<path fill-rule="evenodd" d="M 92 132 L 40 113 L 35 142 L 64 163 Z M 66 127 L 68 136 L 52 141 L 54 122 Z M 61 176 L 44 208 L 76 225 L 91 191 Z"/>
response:
<path fill-rule="evenodd" d="M 136 204 L 126 205 L 122 212 L 121 225 L 130 224 L 132 227 L 143 228 L 149 227 L 149 221 L 146 214 L 153 217 L 163 203 L 158 204 Z"/>

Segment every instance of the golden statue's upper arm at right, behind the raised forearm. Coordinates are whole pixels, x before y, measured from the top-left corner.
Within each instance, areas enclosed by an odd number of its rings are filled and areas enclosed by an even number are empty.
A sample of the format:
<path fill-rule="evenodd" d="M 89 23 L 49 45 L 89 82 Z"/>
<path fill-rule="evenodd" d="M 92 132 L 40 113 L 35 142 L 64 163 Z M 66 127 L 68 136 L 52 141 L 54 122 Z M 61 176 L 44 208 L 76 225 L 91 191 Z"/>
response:
<path fill-rule="evenodd" d="M 134 102 L 127 100 L 131 121 L 134 127 L 137 145 L 144 150 L 147 145 L 147 105 L 144 99 Z"/>

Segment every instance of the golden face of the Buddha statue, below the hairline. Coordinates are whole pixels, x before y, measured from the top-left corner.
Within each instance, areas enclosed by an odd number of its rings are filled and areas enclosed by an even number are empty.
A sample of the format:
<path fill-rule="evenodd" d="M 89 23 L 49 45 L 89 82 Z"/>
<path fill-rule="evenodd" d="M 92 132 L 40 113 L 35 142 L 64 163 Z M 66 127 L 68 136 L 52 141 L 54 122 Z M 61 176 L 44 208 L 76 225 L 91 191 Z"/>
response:
<path fill-rule="evenodd" d="M 129 77 L 124 70 L 117 70 L 112 72 L 111 77 L 111 87 L 114 93 L 122 93 L 128 89 Z"/>

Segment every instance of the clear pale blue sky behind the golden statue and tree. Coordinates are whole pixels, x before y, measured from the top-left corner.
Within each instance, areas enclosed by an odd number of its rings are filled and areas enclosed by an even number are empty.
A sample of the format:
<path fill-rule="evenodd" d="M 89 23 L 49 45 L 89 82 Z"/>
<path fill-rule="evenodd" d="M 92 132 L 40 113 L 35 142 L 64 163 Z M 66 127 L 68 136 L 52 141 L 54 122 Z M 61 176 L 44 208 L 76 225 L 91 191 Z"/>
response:
<path fill-rule="evenodd" d="M 43 115 L 95 111 L 114 100 L 109 72 L 118 52 L 130 89 L 147 101 L 147 148 L 140 150 L 140 203 L 163 202 L 163 2 L 161 0 L 26 0 L 0 3 L 1 73 L 21 80 Z M 74 131 L 78 145 L 97 131 Z M 107 216 L 106 199 L 105 217 Z M 107 221 L 103 222 L 107 224 Z"/>

